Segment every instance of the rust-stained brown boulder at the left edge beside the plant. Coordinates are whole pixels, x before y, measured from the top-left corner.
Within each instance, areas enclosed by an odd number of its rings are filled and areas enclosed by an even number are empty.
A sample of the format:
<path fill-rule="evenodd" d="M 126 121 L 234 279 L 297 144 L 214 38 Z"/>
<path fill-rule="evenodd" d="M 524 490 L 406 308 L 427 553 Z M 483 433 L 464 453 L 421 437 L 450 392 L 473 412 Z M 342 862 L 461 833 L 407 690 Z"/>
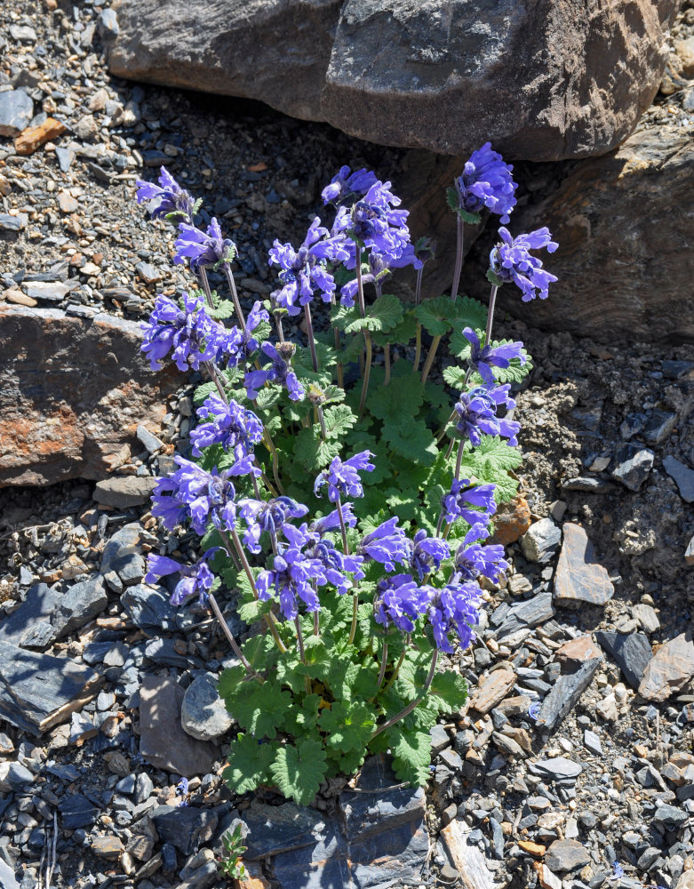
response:
<path fill-rule="evenodd" d="M 162 420 L 176 375 L 152 372 L 141 341 L 122 318 L 0 303 L 0 487 L 103 478 L 140 423 Z"/>

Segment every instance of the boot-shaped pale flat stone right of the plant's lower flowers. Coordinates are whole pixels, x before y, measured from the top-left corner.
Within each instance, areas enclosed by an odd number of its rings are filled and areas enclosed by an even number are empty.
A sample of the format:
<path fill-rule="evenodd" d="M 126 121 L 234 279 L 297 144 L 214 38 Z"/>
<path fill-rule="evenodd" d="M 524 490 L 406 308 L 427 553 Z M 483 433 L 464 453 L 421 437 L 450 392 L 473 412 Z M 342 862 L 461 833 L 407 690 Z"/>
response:
<path fill-rule="evenodd" d="M 559 562 L 554 575 L 557 605 L 604 605 L 614 595 L 607 570 L 595 561 L 595 551 L 580 525 L 566 522 Z"/>

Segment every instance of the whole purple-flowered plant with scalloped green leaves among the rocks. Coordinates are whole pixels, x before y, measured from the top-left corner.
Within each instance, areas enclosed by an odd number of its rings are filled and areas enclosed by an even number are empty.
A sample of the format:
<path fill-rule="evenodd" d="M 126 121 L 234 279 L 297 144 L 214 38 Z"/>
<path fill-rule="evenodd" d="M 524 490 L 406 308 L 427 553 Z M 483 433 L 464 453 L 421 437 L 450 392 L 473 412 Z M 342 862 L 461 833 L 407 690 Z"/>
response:
<path fill-rule="evenodd" d="M 138 183 L 152 215 L 178 224 L 174 261 L 199 284 L 157 298 L 142 348 L 153 369 L 172 360 L 206 377 L 192 459 L 175 458 L 152 509 L 171 532 L 192 527 L 203 555 L 195 565 L 153 555 L 146 580 L 179 573 L 172 601 L 208 605 L 235 653 L 219 681 L 241 728 L 225 771 L 235 792 L 269 782 L 306 805 L 325 779 L 386 749 L 401 780 L 423 783 L 429 730 L 466 700 L 464 679 L 437 665 L 474 639 L 481 579 L 508 567 L 485 541 L 515 493 L 511 387 L 531 367 L 521 342 L 492 339 L 496 294 L 513 283 L 523 300 L 544 299 L 555 280 L 530 253 L 556 248 L 546 229 L 514 239 L 501 228 L 489 308 L 458 294 L 463 223 L 509 220 L 511 174 L 489 144 L 473 154 L 450 195 L 451 295 L 422 301 L 430 244 L 411 243 L 390 182 L 343 167 L 323 190 L 331 227 L 316 217 L 298 249 L 275 241 L 277 288 L 247 317 L 236 247 L 217 220 L 196 228 L 199 204 L 164 170 L 160 188 Z M 407 266 L 411 306 L 384 290 Z M 231 300 L 211 289 L 210 269 Z M 314 310 L 330 313 L 326 330 Z M 284 335 L 283 319 L 299 315 L 306 343 Z M 445 385 L 429 379 L 443 338 L 456 359 Z M 229 591 L 250 628 L 243 645 L 217 601 Z"/>

